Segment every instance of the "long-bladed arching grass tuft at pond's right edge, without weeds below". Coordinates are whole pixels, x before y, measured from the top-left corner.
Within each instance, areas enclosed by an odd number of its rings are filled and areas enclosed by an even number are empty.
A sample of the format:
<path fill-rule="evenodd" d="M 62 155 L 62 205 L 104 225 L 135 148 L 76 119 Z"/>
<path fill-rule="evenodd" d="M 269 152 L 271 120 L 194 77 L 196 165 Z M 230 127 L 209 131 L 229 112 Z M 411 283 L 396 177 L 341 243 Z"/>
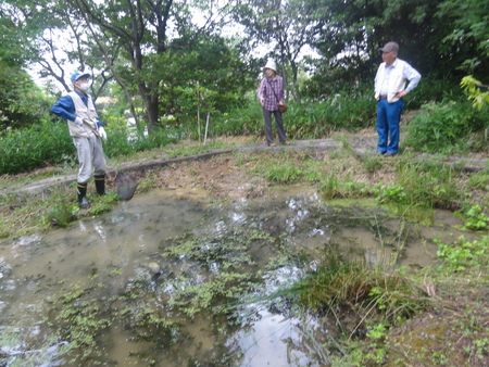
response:
<path fill-rule="evenodd" d="M 300 303 L 308 308 L 334 314 L 347 308 L 364 317 L 376 312 L 379 320 L 397 324 L 428 304 L 426 294 L 399 273 L 344 261 L 336 251 L 328 251 L 325 257 L 326 263 L 297 286 Z"/>

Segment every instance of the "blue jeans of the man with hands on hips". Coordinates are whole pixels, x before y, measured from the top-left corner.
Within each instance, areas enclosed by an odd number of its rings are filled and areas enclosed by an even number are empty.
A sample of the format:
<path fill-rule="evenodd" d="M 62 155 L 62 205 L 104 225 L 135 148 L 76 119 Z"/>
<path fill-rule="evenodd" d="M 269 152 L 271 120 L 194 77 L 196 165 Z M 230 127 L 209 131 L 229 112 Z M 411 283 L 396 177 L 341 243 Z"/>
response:
<path fill-rule="evenodd" d="M 404 107 L 402 99 L 388 103 L 387 100 L 379 100 L 377 105 L 377 152 L 396 154 L 399 151 L 399 137 L 401 131 L 399 123 Z"/>

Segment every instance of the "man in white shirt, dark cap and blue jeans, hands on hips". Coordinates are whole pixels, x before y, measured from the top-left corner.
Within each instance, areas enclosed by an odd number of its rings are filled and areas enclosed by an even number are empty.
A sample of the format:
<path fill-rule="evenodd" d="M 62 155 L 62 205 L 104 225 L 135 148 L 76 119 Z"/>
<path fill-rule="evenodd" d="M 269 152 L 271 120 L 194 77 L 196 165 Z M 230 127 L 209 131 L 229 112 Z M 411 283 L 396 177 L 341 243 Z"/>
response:
<path fill-rule="evenodd" d="M 421 74 L 405 61 L 398 59 L 398 43 L 388 42 L 379 51 L 383 52 L 384 62 L 375 76 L 377 152 L 392 156 L 399 152 L 399 123 L 404 107 L 402 98 L 416 88 Z"/>

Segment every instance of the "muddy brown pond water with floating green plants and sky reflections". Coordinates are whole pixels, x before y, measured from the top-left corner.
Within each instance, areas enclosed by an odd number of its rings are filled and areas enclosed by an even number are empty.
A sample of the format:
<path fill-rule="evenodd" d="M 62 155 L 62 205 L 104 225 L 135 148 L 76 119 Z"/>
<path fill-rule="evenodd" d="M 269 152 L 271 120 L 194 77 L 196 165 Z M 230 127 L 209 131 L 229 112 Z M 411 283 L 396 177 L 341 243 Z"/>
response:
<path fill-rule="evenodd" d="M 0 366 L 319 366 L 327 326 L 280 289 L 334 246 L 388 268 L 426 266 L 459 236 L 372 203 L 281 191 L 233 204 L 136 197 L 68 229 L 0 245 Z M 453 235 L 453 236 L 452 236 Z"/>

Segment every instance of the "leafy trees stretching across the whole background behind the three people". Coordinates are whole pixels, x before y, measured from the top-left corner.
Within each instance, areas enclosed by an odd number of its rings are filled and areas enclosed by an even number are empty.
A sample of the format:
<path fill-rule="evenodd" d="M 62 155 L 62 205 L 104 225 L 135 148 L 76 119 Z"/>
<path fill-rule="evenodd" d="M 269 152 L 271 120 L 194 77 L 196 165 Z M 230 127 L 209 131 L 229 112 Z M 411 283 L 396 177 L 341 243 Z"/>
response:
<path fill-rule="evenodd" d="M 72 88 L 71 72 L 89 72 L 93 98 L 116 84 L 150 132 L 170 114 L 192 124 L 198 111 L 225 112 L 256 87 L 263 65 L 256 47 L 279 62 L 297 100 L 299 90 L 319 97 L 372 83 L 377 49 L 390 40 L 424 76 L 484 80 L 488 7 L 482 0 L 3 0 L 2 116 L 12 126 L 34 121 L 23 99 L 35 90 L 25 68 L 37 65 L 64 90 Z M 242 31 L 229 37 L 224 26 L 231 20 Z M 305 49 L 318 55 L 302 59 Z M 299 88 L 301 68 L 309 78 Z"/>

